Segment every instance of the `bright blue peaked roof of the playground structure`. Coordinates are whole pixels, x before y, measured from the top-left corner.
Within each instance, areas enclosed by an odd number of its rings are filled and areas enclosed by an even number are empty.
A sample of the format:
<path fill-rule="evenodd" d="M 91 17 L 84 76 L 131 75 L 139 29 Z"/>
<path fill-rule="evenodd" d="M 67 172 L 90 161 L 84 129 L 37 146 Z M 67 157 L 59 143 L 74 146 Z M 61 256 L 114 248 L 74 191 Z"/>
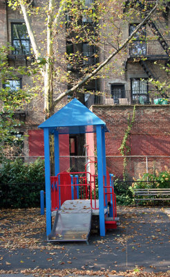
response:
<path fill-rule="evenodd" d="M 41 123 L 39 128 L 49 128 L 50 133 L 57 130 L 59 134 L 82 134 L 96 132 L 96 125 L 102 125 L 105 132 L 108 132 L 106 123 L 74 98 L 44 123 Z"/>

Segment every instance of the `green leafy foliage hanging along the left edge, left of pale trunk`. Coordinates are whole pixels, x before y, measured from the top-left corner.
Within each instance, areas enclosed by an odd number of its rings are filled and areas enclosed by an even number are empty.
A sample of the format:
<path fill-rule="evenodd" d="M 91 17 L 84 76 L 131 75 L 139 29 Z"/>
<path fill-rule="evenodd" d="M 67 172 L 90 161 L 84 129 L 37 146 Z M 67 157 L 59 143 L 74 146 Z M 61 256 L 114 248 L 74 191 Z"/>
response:
<path fill-rule="evenodd" d="M 21 127 L 23 122 L 15 117 L 17 111 L 23 110 L 24 105 L 30 102 L 31 94 L 24 89 L 10 87 L 10 80 L 17 80 L 17 74 L 25 75 L 28 72 L 24 67 L 17 69 L 8 64 L 8 52 L 13 48 L 11 46 L 0 47 L 0 88 L 1 111 L 0 111 L 0 144 L 2 149 L 6 148 L 8 143 L 15 142 L 19 138 L 17 127 Z"/>

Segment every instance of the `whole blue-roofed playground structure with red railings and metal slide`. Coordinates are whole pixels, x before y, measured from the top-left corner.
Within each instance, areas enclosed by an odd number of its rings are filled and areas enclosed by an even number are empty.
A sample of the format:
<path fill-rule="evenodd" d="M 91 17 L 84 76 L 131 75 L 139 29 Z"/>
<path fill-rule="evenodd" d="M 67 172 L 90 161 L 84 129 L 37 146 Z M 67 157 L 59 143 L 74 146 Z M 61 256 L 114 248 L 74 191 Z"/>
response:
<path fill-rule="evenodd" d="M 113 175 L 106 172 L 106 124 L 76 98 L 39 125 L 44 129 L 44 157 L 46 181 L 46 234 L 48 240 L 88 240 L 91 215 L 100 217 L 100 235 L 117 227 L 116 200 Z M 97 172 L 59 171 L 59 134 L 96 133 Z M 50 134 L 55 141 L 55 176 L 50 176 Z M 96 197 L 97 177 L 98 199 Z M 109 204 L 109 211 L 108 211 Z M 53 229 L 52 213 L 55 211 Z M 77 220 L 79 219 L 79 220 Z M 84 231 L 86 232 L 84 233 Z M 77 235 L 76 235 L 77 234 Z"/>

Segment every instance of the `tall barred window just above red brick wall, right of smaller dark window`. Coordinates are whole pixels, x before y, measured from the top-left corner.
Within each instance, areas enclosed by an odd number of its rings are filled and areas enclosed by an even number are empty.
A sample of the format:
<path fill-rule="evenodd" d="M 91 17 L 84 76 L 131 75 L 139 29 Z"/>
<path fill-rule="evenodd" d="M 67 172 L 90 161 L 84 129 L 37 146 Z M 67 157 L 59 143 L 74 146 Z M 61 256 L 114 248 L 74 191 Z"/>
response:
<path fill-rule="evenodd" d="M 133 103 L 149 104 L 148 81 L 147 79 L 131 79 L 131 97 Z"/>

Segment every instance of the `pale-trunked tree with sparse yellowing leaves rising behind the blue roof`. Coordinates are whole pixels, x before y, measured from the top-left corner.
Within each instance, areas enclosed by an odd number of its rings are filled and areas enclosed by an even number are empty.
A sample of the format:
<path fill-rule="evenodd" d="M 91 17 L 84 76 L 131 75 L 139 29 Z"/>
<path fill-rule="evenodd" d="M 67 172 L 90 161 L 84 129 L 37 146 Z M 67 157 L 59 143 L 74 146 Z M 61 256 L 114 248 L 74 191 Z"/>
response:
<path fill-rule="evenodd" d="M 158 8 L 153 3 L 149 13 L 141 13 L 138 1 L 133 1 L 133 6 L 129 4 L 128 9 L 124 8 L 125 3 L 95 0 L 88 6 L 84 0 L 48 0 L 37 1 L 34 6 L 26 0 L 8 1 L 10 7 L 23 13 L 26 21 L 41 84 L 44 82 L 45 118 L 53 114 L 65 96 L 84 92 L 90 80 L 106 78 L 109 71 L 115 72 L 113 57 L 119 55 L 121 59 L 126 54 L 126 46 L 135 33 Z M 122 29 L 135 17 L 140 17 L 141 24 L 124 39 Z M 44 21 L 41 33 L 39 29 L 36 33 L 32 24 L 35 21 L 37 24 Z M 94 50 L 91 64 L 88 55 L 82 55 L 82 44 Z M 119 71 L 123 72 L 121 66 Z"/>

